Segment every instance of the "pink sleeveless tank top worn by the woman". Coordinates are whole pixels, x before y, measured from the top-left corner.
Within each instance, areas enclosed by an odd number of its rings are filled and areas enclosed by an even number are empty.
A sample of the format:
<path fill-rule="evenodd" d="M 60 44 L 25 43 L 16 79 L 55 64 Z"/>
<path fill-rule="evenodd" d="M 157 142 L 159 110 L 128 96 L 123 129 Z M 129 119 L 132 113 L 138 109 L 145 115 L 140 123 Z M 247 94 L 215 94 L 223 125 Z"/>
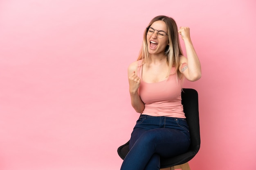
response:
<path fill-rule="evenodd" d="M 145 104 L 142 114 L 149 116 L 167 116 L 186 118 L 181 104 L 181 80 L 177 78 L 175 67 L 164 81 L 146 83 L 142 79 L 142 60 L 138 61 L 137 76 L 141 78 L 139 96 Z"/>

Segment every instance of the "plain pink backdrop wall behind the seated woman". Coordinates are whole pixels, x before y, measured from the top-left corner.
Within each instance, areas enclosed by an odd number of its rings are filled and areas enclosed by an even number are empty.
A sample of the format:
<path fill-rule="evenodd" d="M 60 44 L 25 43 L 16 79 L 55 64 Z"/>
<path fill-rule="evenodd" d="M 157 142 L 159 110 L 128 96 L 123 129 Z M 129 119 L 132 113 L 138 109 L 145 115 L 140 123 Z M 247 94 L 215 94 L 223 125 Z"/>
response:
<path fill-rule="evenodd" d="M 118 170 L 139 114 L 127 67 L 156 15 L 189 26 L 202 78 L 191 170 L 256 162 L 254 0 L 1 0 L 0 170 Z M 182 42 L 182 46 L 184 44 Z"/>

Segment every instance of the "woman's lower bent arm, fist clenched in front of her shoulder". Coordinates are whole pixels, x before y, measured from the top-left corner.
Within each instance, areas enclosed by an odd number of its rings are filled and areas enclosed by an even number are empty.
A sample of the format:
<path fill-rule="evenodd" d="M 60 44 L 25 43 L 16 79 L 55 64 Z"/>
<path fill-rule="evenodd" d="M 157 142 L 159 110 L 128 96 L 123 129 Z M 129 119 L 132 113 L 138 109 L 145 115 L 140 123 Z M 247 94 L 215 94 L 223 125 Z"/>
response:
<path fill-rule="evenodd" d="M 142 113 L 145 105 L 138 93 L 141 79 L 137 76 L 137 61 L 131 63 L 128 67 L 128 81 L 132 107 L 136 112 Z"/>

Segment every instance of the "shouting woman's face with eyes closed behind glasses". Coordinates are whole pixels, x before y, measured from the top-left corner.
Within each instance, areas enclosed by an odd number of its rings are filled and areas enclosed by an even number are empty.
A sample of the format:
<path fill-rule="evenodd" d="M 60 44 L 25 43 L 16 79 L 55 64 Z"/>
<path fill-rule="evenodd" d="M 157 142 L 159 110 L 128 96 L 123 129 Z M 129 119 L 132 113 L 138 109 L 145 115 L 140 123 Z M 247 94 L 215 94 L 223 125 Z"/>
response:
<path fill-rule="evenodd" d="M 164 54 L 166 46 L 169 44 L 169 39 L 167 34 L 167 26 L 164 21 L 155 21 L 153 24 L 150 25 L 151 28 L 155 30 L 152 35 L 147 34 L 147 43 L 148 43 L 148 52 L 149 54 Z M 164 31 L 164 37 L 159 38 L 157 37 L 157 31 Z M 162 34 L 161 32 L 159 32 Z"/>

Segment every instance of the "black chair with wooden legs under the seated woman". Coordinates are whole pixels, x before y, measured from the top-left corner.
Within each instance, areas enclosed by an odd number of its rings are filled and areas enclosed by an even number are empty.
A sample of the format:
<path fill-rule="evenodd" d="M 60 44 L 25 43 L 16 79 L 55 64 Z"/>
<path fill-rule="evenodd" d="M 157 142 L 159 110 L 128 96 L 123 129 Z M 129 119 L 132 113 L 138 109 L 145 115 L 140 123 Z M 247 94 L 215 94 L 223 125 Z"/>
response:
<path fill-rule="evenodd" d="M 174 168 L 182 168 L 182 170 L 190 170 L 189 163 L 200 148 L 200 128 L 199 128 L 199 112 L 198 112 L 198 92 L 195 89 L 183 89 L 181 93 L 182 105 L 186 121 L 189 124 L 189 132 L 191 137 L 191 145 L 189 150 L 175 157 L 160 158 L 161 168 L 174 170 Z M 129 141 L 117 149 L 118 155 L 124 159 L 129 152 Z"/>

